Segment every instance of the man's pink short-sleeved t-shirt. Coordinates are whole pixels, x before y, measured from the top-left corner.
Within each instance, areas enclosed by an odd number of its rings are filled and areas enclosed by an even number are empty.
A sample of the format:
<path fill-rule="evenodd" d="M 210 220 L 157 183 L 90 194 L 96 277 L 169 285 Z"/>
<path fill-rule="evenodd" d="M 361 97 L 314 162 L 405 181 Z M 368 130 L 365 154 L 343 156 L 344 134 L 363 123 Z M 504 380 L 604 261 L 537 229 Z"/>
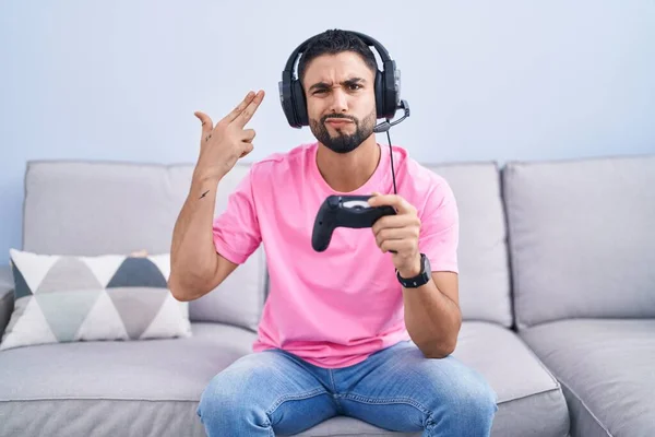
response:
<path fill-rule="evenodd" d="M 389 145 L 380 147 L 369 180 L 341 194 L 393 193 Z M 370 228 L 338 227 L 325 251 L 313 250 L 317 212 L 340 193 L 321 176 L 317 151 L 318 143 L 302 144 L 253 164 L 214 220 L 214 243 L 235 263 L 264 245 L 270 293 L 253 351 L 277 347 L 337 368 L 409 335 L 392 255 L 382 253 Z M 419 250 L 432 271 L 457 272 L 458 214 L 450 186 L 404 149 L 393 146 L 393 156 L 397 193 L 421 220 Z"/>

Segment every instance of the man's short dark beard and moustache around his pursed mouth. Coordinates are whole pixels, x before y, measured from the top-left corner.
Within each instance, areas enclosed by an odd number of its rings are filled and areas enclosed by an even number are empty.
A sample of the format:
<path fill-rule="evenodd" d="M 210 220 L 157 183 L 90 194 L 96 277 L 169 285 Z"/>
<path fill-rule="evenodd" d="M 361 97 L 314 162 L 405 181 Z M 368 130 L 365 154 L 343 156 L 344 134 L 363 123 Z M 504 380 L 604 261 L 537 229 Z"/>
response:
<path fill-rule="evenodd" d="M 325 126 L 325 120 L 329 118 L 345 118 L 353 121 L 355 123 L 355 132 L 344 133 L 338 129 L 334 137 L 330 135 L 327 127 Z M 309 127 L 317 140 L 327 149 L 336 153 L 348 153 L 357 149 L 364 140 L 373 133 L 373 128 L 376 127 L 376 111 L 373 110 L 361 122 L 355 117 L 345 116 L 343 114 L 326 115 L 321 117 L 320 120 L 310 120 Z"/>

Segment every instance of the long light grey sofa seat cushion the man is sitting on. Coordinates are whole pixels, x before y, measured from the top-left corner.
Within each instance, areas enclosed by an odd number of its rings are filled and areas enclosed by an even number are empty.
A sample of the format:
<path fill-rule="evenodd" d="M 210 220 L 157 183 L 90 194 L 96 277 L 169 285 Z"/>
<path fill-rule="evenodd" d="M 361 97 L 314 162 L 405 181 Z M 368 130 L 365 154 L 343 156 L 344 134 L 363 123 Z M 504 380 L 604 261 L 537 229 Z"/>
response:
<path fill-rule="evenodd" d="M 195 415 L 202 391 L 216 373 L 251 351 L 255 334 L 217 323 L 192 329 L 186 339 L 0 352 L 0 437 L 203 436 Z M 455 355 L 498 393 L 493 436 L 565 436 L 567 406 L 557 382 L 511 331 L 464 322 Z M 335 417 L 301 435 L 400 434 Z"/>

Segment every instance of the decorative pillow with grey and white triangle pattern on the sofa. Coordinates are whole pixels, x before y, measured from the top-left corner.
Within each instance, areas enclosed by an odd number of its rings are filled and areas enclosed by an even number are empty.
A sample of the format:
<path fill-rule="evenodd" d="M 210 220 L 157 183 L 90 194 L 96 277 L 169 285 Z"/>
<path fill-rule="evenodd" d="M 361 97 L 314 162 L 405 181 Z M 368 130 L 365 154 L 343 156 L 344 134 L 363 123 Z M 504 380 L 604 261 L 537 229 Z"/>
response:
<path fill-rule="evenodd" d="M 188 303 L 168 290 L 169 253 L 96 257 L 10 249 L 14 310 L 0 350 L 191 335 Z"/>

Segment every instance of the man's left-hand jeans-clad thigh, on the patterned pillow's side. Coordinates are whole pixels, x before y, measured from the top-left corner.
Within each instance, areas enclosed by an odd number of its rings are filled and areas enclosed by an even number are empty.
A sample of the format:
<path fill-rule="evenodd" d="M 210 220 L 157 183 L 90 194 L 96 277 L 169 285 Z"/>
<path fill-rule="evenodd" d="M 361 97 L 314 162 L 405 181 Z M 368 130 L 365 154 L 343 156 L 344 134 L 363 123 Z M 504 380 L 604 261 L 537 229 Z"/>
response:
<path fill-rule="evenodd" d="M 211 380 L 198 414 L 210 436 L 300 433 L 336 414 L 320 377 L 281 351 L 250 354 Z"/>

